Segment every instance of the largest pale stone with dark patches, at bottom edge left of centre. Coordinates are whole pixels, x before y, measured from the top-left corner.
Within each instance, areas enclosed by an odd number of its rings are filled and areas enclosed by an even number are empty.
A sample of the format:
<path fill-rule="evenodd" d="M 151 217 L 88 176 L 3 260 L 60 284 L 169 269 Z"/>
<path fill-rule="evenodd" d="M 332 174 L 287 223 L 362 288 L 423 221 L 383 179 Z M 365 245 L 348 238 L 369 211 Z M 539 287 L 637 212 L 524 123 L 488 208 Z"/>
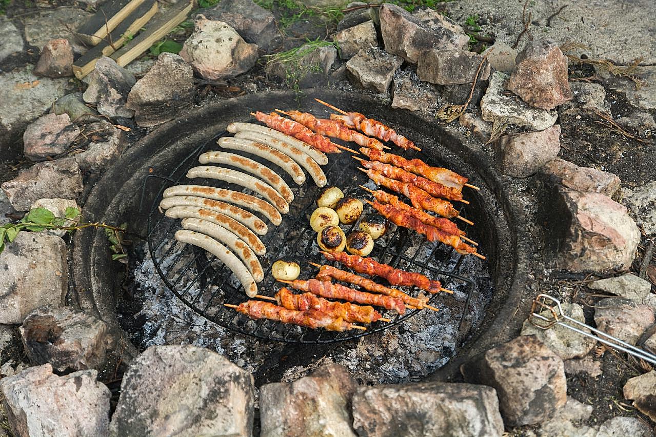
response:
<path fill-rule="evenodd" d="M 253 375 L 211 350 L 150 346 L 123 375 L 110 435 L 252 435 Z"/>

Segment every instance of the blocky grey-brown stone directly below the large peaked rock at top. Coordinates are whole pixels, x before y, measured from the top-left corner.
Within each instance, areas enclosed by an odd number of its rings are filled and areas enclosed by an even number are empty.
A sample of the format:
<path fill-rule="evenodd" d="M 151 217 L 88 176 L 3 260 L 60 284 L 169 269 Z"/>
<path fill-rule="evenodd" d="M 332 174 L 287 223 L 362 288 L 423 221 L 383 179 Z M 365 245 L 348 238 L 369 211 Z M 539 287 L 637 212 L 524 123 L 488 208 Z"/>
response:
<path fill-rule="evenodd" d="M 473 83 L 481 62 L 483 67 L 478 78 L 486 81 L 490 66 L 480 54 L 464 50 L 426 50 L 417 60 L 417 74 L 422 81 L 437 85 Z"/>

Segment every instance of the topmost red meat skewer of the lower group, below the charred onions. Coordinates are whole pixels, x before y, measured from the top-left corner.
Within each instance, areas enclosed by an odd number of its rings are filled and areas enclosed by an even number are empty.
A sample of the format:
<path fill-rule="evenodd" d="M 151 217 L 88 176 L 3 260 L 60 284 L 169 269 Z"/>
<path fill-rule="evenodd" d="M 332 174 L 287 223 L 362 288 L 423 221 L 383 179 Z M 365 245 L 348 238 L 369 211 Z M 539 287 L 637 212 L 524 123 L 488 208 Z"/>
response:
<path fill-rule="evenodd" d="M 392 285 L 415 285 L 415 287 L 426 290 L 429 293 L 439 293 L 440 291 L 453 293 L 453 291 L 443 289 L 440 281 L 428 279 L 420 273 L 405 272 L 405 270 L 394 268 L 388 264 L 382 264 L 371 258 L 348 255 L 348 253 L 344 252 L 328 253 L 321 251 L 321 253 L 329 261 L 339 261 L 358 273 L 380 276 L 380 278 L 385 278 Z"/>

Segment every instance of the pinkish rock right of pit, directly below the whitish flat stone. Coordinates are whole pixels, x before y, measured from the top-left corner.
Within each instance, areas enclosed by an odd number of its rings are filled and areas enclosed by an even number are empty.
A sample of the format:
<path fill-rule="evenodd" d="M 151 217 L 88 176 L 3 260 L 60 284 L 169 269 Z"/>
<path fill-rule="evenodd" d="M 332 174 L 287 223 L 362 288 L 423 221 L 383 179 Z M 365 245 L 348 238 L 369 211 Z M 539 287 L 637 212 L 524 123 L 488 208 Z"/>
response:
<path fill-rule="evenodd" d="M 504 175 L 525 178 L 560 152 L 560 125 L 539 132 L 504 135 L 495 142 L 497 165 Z"/>

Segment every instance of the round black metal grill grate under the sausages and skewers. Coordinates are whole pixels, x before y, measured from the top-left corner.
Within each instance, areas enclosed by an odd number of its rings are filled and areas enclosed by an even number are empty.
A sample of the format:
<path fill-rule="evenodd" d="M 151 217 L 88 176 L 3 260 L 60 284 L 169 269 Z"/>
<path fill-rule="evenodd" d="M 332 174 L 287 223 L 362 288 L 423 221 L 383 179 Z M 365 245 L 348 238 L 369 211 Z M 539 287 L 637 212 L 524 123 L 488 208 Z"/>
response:
<path fill-rule="evenodd" d="M 371 323 L 367 326 L 367 331 L 354 329 L 352 331 L 333 332 L 323 329 L 307 329 L 270 320 L 251 320 L 232 308 L 224 306 L 224 303 L 239 304 L 247 300 L 239 281 L 215 257 L 205 253 L 202 249 L 175 241 L 173 234 L 180 229 L 180 220 L 167 218 L 158 209 L 163 191 L 176 184 L 202 184 L 242 190 L 239 186 L 216 180 L 189 180 L 186 178 L 188 169 L 199 165 L 197 158 L 200 154 L 208 150 L 220 149 L 216 145 L 216 139 L 224 135 L 229 134 L 224 131 L 209 139 L 205 144 L 199 145 L 186 159 L 174 167 L 171 174 L 152 174 L 146 178 L 147 180 L 157 178 L 161 182 L 161 188 L 155 196 L 155 201 L 148 215 L 150 255 L 159 276 L 176 297 L 201 316 L 227 329 L 260 339 L 287 343 L 346 341 L 388 329 L 419 312 L 419 310 L 407 310 L 403 316 L 388 314 L 392 318 L 392 322 Z M 440 165 L 440 163 L 434 162 L 422 152 L 414 150 L 404 152 L 403 156 L 408 158 L 419 157 L 429 164 Z M 270 163 L 257 157 L 249 157 L 270 165 Z M 359 185 L 367 184 L 368 178 L 364 173 L 358 171 L 357 164 L 348 152 L 337 155 L 332 154 L 329 156 L 329 163 L 323 166 L 323 171 L 328 178 L 328 183 L 342 188 L 346 196 L 370 199 L 371 195 L 359 188 Z M 271 265 L 275 260 L 280 258 L 293 259 L 301 265 L 300 279 L 313 278 L 318 272 L 318 268 L 310 266 L 307 262 L 326 263 L 323 256 L 318 253 L 316 233 L 310 228 L 309 224 L 309 216 L 316 207 L 314 201 L 318 196 L 319 188 L 314 186 L 312 178 L 309 176 L 302 186 L 297 186 L 285 172 L 280 170 L 277 173 L 285 178 L 292 188 L 295 199 L 290 205 L 289 214 L 283 215 L 281 225 L 274 226 L 268 223 L 268 234 L 261 236 L 262 242 L 267 247 L 267 253 L 260 257 L 262 268 L 265 272 L 270 272 Z M 146 181 L 144 181 L 144 189 L 145 186 Z M 254 194 L 248 190 L 243 191 Z M 463 204 L 462 206 L 466 205 Z M 365 205 L 363 215 L 370 212 L 374 212 L 371 206 Z M 461 215 L 466 217 L 464 208 L 461 209 Z M 266 222 L 266 218 L 260 218 Z M 357 223 L 345 230 L 345 233 L 348 235 L 355 226 L 357 226 Z M 459 223 L 459 227 L 466 230 L 464 223 Z M 463 256 L 451 247 L 438 242 L 428 242 L 425 238 L 415 232 L 409 232 L 407 229 L 396 228 L 392 225 L 392 231 L 375 241 L 375 247 L 370 256 L 375 257 L 380 262 L 386 262 L 404 270 L 420 272 L 430 278 L 440 279 L 443 287 L 458 289 L 466 293 L 467 299 L 464 302 L 455 302 L 454 296 L 445 293 L 433 295 L 429 301 L 430 304 L 438 307 L 443 306 L 447 301 L 449 301 L 449 306 L 452 308 L 454 306 L 460 307 L 462 322 L 467 312 L 470 294 L 474 289 L 472 279 L 468 278 L 466 272 L 461 272 Z M 279 285 L 270 274 L 265 274 L 264 281 L 258 284 L 258 293 L 273 296 Z M 404 291 L 413 296 L 417 296 L 420 292 L 415 287 L 411 289 L 404 287 Z"/>

